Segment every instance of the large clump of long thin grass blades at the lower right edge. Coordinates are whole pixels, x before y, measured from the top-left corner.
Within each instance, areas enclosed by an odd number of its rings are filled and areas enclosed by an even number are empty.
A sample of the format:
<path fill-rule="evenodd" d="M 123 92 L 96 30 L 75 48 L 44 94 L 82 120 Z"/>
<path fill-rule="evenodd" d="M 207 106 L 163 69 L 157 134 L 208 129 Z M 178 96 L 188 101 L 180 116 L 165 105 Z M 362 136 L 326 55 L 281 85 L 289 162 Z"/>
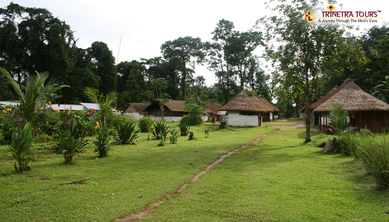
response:
<path fill-rule="evenodd" d="M 367 175 L 376 183 L 377 189 L 389 190 L 389 138 L 363 140 L 352 153 Z"/>

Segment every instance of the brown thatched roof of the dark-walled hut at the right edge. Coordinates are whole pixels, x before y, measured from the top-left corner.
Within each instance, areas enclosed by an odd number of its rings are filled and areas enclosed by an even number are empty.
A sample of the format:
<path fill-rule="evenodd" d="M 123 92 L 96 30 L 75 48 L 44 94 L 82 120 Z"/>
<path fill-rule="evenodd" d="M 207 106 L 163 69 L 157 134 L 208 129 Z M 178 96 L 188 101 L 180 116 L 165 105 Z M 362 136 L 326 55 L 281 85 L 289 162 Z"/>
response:
<path fill-rule="evenodd" d="M 319 105 L 313 112 L 331 111 L 336 104 L 340 104 L 343 110 L 350 111 L 389 111 L 389 104 L 363 91 L 352 80 L 346 80 L 341 86 L 343 87 L 335 95 Z"/>

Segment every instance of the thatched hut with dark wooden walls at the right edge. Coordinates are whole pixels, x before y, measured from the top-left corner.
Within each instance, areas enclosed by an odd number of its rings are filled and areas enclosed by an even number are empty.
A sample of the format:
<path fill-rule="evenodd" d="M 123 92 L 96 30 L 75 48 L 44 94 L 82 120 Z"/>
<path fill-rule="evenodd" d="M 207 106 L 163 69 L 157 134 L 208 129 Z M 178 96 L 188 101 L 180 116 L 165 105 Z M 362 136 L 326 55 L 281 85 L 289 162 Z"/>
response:
<path fill-rule="evenodd" d="M 313 112 L 320 113 L 320 116 L 325 117 L 334 105 L 340 104 L 343 110 L 351 111 L 348 117 L 351 126 L 357 128 L 367 127 L 374 132 L 381 131 L 382 129 L 388 130 L 389 104 L 363 91 L 353 81 L 346 81 L 346 85 L 326 102 L 319 105 Z M 323 123 L 324 125 L 327 124 L 327 118 L 323 119 Z"/>

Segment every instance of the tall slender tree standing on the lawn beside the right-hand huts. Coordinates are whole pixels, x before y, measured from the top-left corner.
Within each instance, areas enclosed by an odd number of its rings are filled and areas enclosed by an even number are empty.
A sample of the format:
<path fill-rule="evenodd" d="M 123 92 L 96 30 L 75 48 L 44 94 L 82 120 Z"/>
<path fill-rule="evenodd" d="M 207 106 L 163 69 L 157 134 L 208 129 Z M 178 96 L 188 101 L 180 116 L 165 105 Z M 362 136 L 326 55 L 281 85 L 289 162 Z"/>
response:
<path fill-rule="evenodd" d="M 268 7 L 273 1 L 267 3 Z M 279 0 L 271 10 L 280 16 L 262 17 L 257 21 L 266 29 L 267 59 L 278 65 L 277 69 L 283 73 L 280 84 L 293 81 L 304 92 L 305 142 L 310 141 L 309 109 L 323 60 L 332 58 L 331 61 L 336 61 L 332 51 L 344 33 L 337 25 L 309 23 L 304 19 L 307 11 L 319 11 L 316 10 L 319 7 L 323 8 L 323 5 L 316 0 L 291 0 L 289 4 Z"/>

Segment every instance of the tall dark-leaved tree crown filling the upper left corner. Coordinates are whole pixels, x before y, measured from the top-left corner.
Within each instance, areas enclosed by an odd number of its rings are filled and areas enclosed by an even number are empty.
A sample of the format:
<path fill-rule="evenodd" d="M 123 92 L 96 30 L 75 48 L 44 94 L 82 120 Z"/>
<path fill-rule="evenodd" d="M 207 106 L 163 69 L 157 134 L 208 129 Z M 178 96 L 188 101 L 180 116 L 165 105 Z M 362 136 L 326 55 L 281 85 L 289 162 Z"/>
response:
<path fill-rule="evenodd" d="M 48 71 L 61 81 L 73 61 L 75 41 L 70 26 L 47 9 L 10 3 L 0 9 L 0 66 L 21 83 L 30 73 Z"/>

